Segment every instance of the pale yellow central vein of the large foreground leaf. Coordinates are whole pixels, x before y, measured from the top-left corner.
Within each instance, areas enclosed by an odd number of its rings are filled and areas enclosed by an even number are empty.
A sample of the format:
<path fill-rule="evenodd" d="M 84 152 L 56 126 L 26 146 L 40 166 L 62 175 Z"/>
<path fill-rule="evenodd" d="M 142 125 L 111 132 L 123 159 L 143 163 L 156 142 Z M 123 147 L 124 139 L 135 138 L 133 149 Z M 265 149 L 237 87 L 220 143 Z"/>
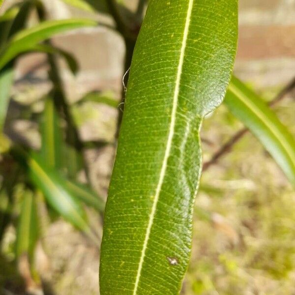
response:
<path fill-rule="evenodd" d="M 189 32 L 189 25 L 190 25 L 192 10 L 193 10 L 193 3 L 194 3 L 194 0 L 189 0 L 186 21 L 185 21 L 185 27 L 184 27 L 184 32 L 183 32 L 183 39 L 182 39 L 181 50 L 180 50 L 179 63 L 178 63 L 178 68 L 177 68 L 177 77 L 176 77 L 175 89 L 174 89 L 174 95 L 173 95 L 173 107 L 172 107 L 172 113 L 171 113 L 171 122 L 170 122 L 167 146 L 166 146 L 165 155 L 164 155 L 164 159 L 163 159 L 163 163 L 162 163 L 159 182 L 157 184 L 157 188 L 156 188 L 156 192 L 155 192 L 155 196 L 154 196 L 154 200 L 153 200 L 153 205 L 151 208 L 151 212 L 149 214 L 148 228 L 147 228 L 147 232 L 146 232 L 146 236 L 145 236 L 143 249 L 141 252 L 140 262 L 138 265 L 133 295 L 137 294 L 141 271 L 142 271 L 144 259 L 146 256 L 148 239 L 150 236 L 151 227 L 152 227 L 153 220 L 154 220 L 155 213 L 156 213 L 157 203 L 159 201 L 160 192 L 162 189 L 164 177 L 165 177 L 166 170 L 167 170 L 168 158 L 169 158 L 170 152 L 171 152 L 172 141 L 173 141 L 173 136 L 174 136 L 174 132 L 175 132 L 175 122 L 176 122 L 177 103 L 178 103 L 178 96 L 179 96 L 179 89 L 180 89 L 181 73 L 182 73 L 182 67 L 183 67 L 183 62 L 184 62 L 184 54 L 185 54 L 187 36 L 188 36 L 188 32 Z"/>

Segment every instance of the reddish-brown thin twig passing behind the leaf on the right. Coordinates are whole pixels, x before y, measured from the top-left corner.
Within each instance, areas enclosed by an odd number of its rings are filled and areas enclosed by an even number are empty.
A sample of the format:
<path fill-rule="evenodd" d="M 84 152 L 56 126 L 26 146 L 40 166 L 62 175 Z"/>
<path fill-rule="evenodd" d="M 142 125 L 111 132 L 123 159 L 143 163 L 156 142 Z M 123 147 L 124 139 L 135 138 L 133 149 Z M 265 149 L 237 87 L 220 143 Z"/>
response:
<path fill-rule="evenodd" d="M 284 87 L 275 97 L 272 99 L 268 105 L 274 106 L 278 102 L 280 102 L 283 98 L 287 96 L 291 91 L 295 89 L 295 78 L 292 79 L 292 81 Z M 238 142 L 247 132 L 249 131 L 248 128 L 243 128 L 239 131 L 237 131 L 233 137 L 228 140 L 216 153 L 213 154 L 211 159 L 204 163 L 203 165 L 203 172 L 206 171 L 211 165 L 216 164 L 218 160 L 225 154 L 231 151 L 233 146 Z"/>

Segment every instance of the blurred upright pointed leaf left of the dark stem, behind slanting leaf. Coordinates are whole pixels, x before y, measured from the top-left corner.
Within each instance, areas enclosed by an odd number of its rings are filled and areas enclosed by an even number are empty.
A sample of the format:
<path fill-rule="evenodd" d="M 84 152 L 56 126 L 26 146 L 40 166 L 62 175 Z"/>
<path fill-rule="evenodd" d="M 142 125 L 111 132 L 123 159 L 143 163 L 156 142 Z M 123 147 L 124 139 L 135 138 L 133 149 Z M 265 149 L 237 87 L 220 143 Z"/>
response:
<path fill-rule="evenodd" d="M 61 167 L 62 134 L 59 114 L 52 97 L 47 97 L 41 125 L 41 154 L 51 168 Z"/>

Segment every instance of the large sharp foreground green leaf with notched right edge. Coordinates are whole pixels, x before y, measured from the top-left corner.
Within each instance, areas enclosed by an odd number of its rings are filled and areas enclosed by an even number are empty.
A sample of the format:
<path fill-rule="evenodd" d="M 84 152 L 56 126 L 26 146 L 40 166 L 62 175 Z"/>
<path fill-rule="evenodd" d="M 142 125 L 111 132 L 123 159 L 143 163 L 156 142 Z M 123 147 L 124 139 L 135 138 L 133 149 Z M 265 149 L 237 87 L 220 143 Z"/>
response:
<path fill-rule="evenodd" d="M 199 130 L 223 100 L 236 0 L 151 0 L 132 59 L 105 211 L 101 295 L 176 295 L 202 168 Z"/>

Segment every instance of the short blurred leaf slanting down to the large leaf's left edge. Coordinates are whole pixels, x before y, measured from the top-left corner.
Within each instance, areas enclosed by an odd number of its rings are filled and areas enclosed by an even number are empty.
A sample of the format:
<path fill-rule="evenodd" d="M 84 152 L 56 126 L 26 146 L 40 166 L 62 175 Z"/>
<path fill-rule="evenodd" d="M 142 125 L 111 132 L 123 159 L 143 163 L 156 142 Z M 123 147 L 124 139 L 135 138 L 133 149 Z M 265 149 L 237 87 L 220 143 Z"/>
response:
<path fill-rule="evenodd" d="M 104 212 L 105 205 L 102 198 L 97 196 L 88 186 L 67 180 L 66 187 L 81 202 L 93 207 L 98 212 Z"/>

